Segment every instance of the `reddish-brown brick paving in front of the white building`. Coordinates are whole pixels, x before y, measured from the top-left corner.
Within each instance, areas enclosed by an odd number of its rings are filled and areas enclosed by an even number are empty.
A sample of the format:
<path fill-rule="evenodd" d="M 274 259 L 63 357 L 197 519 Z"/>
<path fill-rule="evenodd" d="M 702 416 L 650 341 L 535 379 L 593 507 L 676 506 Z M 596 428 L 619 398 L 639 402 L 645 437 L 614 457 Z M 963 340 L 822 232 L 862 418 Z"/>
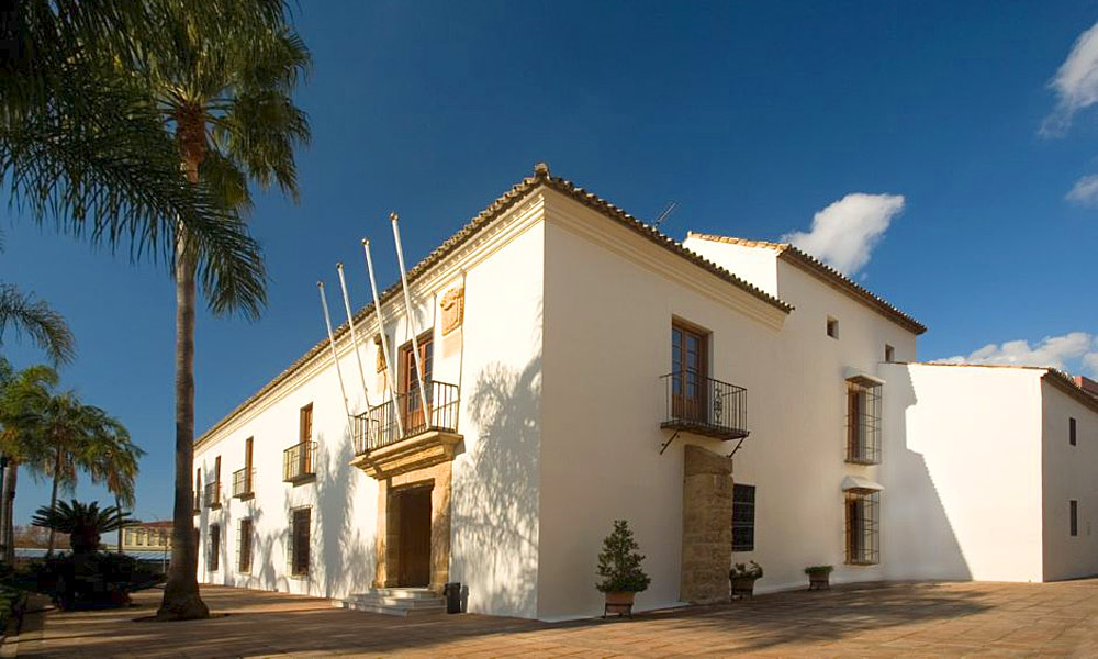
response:
<path fill-rule="evenodd" d="M 878 583 L 786 592 L 621 621 L 393 618 L 327 600 L 205 587 L 217 617 L 134 622 L 125 610 L 32 615 L 19 657 L 1098 657 L 1098 579 Z M 9 656 L 5 646 L 3 656 Z"/>

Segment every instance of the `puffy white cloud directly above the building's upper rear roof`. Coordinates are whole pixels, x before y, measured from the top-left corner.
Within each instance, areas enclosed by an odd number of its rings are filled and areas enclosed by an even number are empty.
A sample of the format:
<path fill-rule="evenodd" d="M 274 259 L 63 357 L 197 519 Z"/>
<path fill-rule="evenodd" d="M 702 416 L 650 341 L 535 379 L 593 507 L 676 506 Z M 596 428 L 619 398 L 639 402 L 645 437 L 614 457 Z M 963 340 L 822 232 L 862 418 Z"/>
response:
<path fill-rule="evenodd" d="M 903 210 L 901 194 L 854 192 L 816 213 L 811 231 L 788 233 L 782 239 L 853 275 L 870 263 L 873 248 Z"/>

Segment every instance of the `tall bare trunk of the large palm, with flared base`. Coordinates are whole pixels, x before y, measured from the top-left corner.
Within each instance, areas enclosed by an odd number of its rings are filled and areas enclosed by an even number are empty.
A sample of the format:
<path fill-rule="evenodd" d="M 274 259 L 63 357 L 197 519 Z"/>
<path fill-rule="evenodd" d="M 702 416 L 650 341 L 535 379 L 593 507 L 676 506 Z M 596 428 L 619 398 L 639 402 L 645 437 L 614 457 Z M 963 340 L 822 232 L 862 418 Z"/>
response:
<path fill-rule="evenodd" d="M 197 159 L 184 160 L 187 178 L 199 180 Z M 157 617 L 210 617 L 199 595 L 198 547 L 194 541 L 194 255 L 187 230 L 176 244 L 176 502 L 171 524 L 171 563 Z"/>

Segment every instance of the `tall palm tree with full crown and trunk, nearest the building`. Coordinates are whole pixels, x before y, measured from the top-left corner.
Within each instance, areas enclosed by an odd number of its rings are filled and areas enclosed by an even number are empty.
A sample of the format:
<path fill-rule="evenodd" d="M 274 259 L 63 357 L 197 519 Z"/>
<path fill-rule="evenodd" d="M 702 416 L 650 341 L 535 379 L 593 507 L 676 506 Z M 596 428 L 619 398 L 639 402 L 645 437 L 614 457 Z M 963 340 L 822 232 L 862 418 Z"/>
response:
<path fill-rule="evenodd" d="M 292 100 L 310 54 L 285 25 L 245 23 L 240 32 L 203 32 L 188 7 L 170 24 L 176 47 L 150 65 L 153 94 L 179 145 L 191 185 L 206 185 L 227 205 L 250 209 L 249 181 L 277 185 L 294 200 L 294 149 L 309 123 Z M 190 235 L 176 245 L 176 501 L 171 566 L 158 615 L 199 618 L 192 481 L 194 442 L 194 263 Z"/>

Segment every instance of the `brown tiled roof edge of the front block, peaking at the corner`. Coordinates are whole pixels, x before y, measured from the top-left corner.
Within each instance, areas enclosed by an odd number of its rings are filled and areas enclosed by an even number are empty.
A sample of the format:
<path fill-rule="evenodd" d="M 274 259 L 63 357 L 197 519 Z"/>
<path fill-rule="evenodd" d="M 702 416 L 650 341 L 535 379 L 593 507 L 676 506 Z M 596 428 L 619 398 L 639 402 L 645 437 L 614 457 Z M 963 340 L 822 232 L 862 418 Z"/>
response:
<path fill-rule="evenodd" d="M 710 273 L 719 277 L 720 279 L 727 281 L 728 283 L 754 295 L 755 298 L 762 300 L 763 302 L 781 310 L 786 313 L 793 311 L 793 305 L 787 304 L 777 298 L 766 293 L 762 289 L 749 283 L 748 281 L 740 279 L 739 277 L 732 275 L 725 268 L 709 261 L 697 254 L 694 254 L 690 249 L 682 246 L 682 243 L 675 241 L 674 238 L 660 233 L 653 226 L 640 222 L 629 213 L 626 213 L 613 203 L 595 196 L 592 192 L 580 188 L 572 181 L 562 179 L 560 177 L 554 177 L 549 172 L 548 165 L 544 163 L 538 163 L 534 167 L 534 176 L 524 178 L 518 183 L 512 186 L 511 190 L 507 190 L 498 199 L 493 201 L 486 209 L 477 214 L 475 217 L 469 221 L 461 230 L 456 234 L 447 238 L 441 245 L 436 247 L 428 254 L 423 260 L 415 265 L 407 273 L 408 284 L 411 286 L 415 282 L 424 272 L 429 270 L 433 266 L 442 260 L 450 253 L 456 250 L 458 247 L 463 245 L 466 242 L 475 236 L 485 226 L 488 226 L 493 220 L 500 217 L 504 212 L 513 208 L 518 201 L 524 199 L 529 192 L 537 189 L 539 186 L 545 186 L 551 190 L 556 190 L 572 200 L 586 205 L 595 211 L 598 211 L 605 217 L 614 220 L 619 224 L 626 226 L 627 228 L 640 234 L 641 236 L 648 238 L 649 241 L 660 245 L 664 249 L 676 254 L 677 256 L 693 263 L 694 265 L 708 270 Z M 401 291 L 401 284 L 397 281 L 384 291 L 380 293 L 381 303 L 384 304 L 391 298 L 399 294 Z M 365 321 L 369 314 L 373 313 L 373 303 L 367 304 L 358 313 L 355 314 L 355 322 L 359 323 Z M 343 335 L 348 332 L 349 326 L 347 323 L 339 325 L 334 331 L 335 339 L 338 342 Z M 305 364 L 313 359 L 322 350 L 326 349 L 328 346 L 328 339 L 324 338 L 312 348 L 310 348 L 304 355 L 302 355 L 296 361 L 287 367 L 282 372 L 274 376 L 267 384 L 259 389 L 256 393 L 251 394 L 247 400 L 233 409 L 228 414 L 226 414 L 221 421 L 215 423 L 210 429 L 203 433 L 195 444 L 202 443 L 208 437 L 212 436 L 219 429 L 224 427 L 231 420 L 233 420 L 237 414 L 242 413 L 254 402 L 262 398 L 269 391 L 278 387 L 284 380 L 293 376 L 299 369 L 301 369 Z"/>

